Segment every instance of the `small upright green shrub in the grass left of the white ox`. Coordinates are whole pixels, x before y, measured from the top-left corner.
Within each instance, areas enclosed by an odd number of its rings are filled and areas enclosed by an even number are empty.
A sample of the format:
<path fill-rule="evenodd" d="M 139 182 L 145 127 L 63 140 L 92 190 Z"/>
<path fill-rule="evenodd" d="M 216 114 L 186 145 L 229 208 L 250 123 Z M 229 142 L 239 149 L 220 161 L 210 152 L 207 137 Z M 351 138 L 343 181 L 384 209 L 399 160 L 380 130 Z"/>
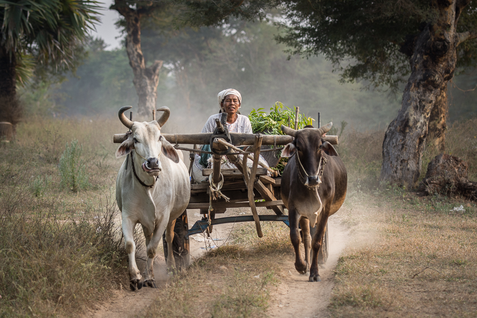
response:
<path fill-rule="evenodd" d="M 62 186 L 68 187 L 73 192 L 79 189 L 86 189 L 89 186 L 86 165 L 81 154 L 83 147 L 78 146 L 78 141 L 74 140 L 71 145 L 66 143 L 65 151 L 59 159 L 59 173 L 61 174 Z"/>

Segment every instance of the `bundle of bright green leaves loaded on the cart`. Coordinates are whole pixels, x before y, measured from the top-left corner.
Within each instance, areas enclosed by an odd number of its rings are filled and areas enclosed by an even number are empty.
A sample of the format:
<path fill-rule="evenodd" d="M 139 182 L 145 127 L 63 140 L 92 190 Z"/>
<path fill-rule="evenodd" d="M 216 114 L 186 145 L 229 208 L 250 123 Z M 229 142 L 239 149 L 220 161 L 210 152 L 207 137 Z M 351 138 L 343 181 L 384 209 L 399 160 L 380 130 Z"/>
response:
<path fill-rule="evenodd" d="M 253 133 L 263 133 L 267 135 L 283 135 L 282 125 L 294 128 L 295 127 L 296 108 L 290 109 L 280 102 L 276 102 L 271 108 L 270 112 L 263 111 L 263 108 L 257 110 L 252 109 L 248 118 L 252 124 Z M 311 117 L 299 114 L 298 129 L 304 128 L 306 125 L 312 125 L 314 119 Z M 275 153 L 278 156 L 280 152 Z M 288 158 L 280 158 L 279 163 L 272 169 L 278 170 L 281 174 Z"/>

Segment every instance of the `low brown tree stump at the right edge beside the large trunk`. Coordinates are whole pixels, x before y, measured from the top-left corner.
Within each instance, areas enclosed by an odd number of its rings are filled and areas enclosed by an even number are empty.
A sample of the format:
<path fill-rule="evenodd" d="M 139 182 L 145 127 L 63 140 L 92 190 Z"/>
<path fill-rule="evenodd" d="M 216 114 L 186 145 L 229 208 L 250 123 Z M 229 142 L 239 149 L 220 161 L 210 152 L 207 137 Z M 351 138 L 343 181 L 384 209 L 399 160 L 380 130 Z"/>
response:
<path fill-rule="evenodd" d="M 462 195 L 477 201 L 477 182 L 468 180 L 467 163 L 450 154 L 440 154 L 427 166 L 427 173 L 419 186 L 422 195 Z"/>

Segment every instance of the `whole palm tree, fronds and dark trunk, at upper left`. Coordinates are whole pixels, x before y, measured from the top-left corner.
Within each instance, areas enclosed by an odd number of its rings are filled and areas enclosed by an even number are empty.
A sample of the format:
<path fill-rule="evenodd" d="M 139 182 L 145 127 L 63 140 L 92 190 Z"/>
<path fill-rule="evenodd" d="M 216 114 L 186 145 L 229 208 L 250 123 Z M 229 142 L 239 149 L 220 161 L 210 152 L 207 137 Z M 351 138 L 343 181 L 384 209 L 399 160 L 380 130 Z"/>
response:
<path fill-rule="evenodd" d="M 74 68 L 76 49 L 98 21 L 95 1 L 0 0 L 0 117 L 15 124 L 19 73 L 36 65 L 61 72 Z"/>

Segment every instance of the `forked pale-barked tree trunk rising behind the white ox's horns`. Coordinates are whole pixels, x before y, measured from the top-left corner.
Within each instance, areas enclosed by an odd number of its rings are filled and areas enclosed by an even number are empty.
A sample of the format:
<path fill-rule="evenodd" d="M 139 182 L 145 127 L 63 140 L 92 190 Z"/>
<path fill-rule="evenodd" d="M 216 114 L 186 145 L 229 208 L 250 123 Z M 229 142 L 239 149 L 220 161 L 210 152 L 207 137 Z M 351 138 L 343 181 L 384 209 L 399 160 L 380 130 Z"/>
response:
<path fill-rule="evenodd" d="M 126 51 L 129 57 L 129 65 L 134 73 L 134 87 L 139 98 L 137 103 L 138 113 L 143 117 L 151 116 L 152 110 L 156 108 L 159 71 L 163 61 L 154 61 L 150 67 L 146 67 L 146 61 L 141 50 L 142 14 L 127 5 L 114 5 L 111 9 L 119 12 L 126 19 Z"/>

